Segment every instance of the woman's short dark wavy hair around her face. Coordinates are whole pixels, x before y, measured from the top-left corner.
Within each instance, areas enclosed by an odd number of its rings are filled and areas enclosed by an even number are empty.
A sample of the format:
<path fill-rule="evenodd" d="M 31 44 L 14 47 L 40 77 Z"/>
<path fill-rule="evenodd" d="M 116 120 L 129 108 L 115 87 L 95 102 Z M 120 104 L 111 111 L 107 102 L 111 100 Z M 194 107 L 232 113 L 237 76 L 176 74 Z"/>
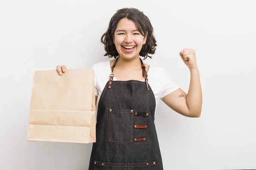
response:
<path fill-rule="evenodd" d="M 108 30 L 101 37 L 101 42 L 104 44 L 106 51 L 104 56 L 114 58 L 119 56 L 115 44 L 113 43 L 113 36 L 116 31 L 117 23 L 123 18 L 134 21 L 136 28 L 144 37 L 146 36 L 146 32 L 148 32 L 146 43 L 142 46 L 139 55 L 144 57 L 144 59 L 147 57 L 152 58 L 148 56 L 148 54 L 154 54 L 157 46 L 157 41 L 153 35 L 153 27 L 148 17 L 136 8 L 122 8 L 113 15 L 109 22 Z"/>

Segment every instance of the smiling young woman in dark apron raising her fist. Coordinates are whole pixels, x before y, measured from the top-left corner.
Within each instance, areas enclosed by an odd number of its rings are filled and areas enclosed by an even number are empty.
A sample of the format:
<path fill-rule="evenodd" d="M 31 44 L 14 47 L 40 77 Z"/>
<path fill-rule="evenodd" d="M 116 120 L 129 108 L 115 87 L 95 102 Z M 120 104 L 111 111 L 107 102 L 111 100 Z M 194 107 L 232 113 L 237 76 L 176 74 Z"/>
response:
<path fill-rule="evenodd" d="M 195 50 L 180 51 L 191 73 L 186 94 L 163 68 L 140 59 L 154 54 L 157 46 L 153 27 L 143 12 L 118 10 L 101 40 L 105 56 L 115 59 L 92 67 L 97 123 L 89 170 L 163 170 L 154 115 L 160 100 L 184 116 L 201 115 Z M 57 66 L 60 75 L 66 69 L 65 65 Z"/>

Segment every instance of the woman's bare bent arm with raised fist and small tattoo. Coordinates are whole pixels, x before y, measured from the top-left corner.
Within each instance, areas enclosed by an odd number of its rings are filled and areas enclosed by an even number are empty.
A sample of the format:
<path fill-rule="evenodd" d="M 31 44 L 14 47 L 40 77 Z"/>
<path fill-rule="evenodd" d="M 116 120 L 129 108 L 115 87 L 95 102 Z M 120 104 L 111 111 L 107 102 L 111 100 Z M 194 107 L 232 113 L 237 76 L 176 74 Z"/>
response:
<path fill-rule="evenodd" d="M 195 50 L 184 48 L 183 51 L 180 51 L 180 57 L 189 67 L 190 71 L 188 94 L 179 88 L 163 97 L 163 102 L 172 108 L 172 110 L 183 116 L 200 117 L 202 109 L 202 89 L 199 70 L 195 59 Z"/>

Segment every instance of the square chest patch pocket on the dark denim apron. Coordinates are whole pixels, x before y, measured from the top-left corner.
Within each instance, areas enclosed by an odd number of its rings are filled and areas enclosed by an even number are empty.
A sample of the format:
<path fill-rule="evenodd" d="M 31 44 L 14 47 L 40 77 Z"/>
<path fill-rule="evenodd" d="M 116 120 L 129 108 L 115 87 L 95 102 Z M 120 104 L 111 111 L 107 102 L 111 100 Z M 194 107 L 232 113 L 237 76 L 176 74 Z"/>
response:
<path fill-rule="evenodd" d="M 134 109 L 108 109 L 108 142 L 133 142 Z"/>

